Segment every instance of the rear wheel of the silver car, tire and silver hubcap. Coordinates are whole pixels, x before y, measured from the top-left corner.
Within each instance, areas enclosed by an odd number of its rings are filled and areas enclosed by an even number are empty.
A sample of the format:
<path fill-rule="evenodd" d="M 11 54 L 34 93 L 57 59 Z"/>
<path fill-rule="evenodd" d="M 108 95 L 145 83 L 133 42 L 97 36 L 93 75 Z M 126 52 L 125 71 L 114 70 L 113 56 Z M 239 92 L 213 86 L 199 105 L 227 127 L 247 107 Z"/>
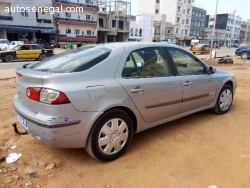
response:
<path fill-rule="evenodd" d="M 86 144 L 86 151 L 95 159 L 112 161 L 122 155 L 133 136 L 133 122 L 120 109 L 101 115 L 93 125 Z"/>

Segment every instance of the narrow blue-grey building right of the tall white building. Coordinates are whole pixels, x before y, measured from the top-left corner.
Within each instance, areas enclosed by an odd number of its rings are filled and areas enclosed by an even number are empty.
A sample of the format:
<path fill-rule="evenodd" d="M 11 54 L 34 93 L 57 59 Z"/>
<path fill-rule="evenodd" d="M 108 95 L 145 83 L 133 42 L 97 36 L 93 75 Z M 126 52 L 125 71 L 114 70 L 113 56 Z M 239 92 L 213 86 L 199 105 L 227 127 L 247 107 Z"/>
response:
<path fill-rule="evenodd" d="M 190 27 L 190 36 L 192 38 L 199 40 L 203 39 L 205 31 L 206 14 L 207 14 L 206 10 L 193 6 L 191 27 Z"/>

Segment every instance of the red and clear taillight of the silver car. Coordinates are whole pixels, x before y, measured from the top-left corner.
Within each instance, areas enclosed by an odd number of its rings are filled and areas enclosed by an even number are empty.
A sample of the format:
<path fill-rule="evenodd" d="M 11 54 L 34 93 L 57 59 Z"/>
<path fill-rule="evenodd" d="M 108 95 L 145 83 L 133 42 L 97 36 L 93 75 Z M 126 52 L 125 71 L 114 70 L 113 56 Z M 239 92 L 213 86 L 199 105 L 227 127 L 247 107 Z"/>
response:
<path fill-rule="evenodd" d="M 27 97 L 37 102 L 57 105 L 70 103 L 68 97 L 61 91 L 47 88 L 27 88 Z"/>

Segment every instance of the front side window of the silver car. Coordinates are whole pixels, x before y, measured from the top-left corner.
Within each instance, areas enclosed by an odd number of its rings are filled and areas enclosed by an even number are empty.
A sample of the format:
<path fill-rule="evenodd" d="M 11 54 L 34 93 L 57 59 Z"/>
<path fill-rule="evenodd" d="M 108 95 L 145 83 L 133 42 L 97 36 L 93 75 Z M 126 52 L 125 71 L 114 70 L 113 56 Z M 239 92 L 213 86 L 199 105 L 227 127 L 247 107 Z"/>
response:
<path fill-rule="evenodd" d="M 205 66 L 195 56 L 177 48 L 168 48 L 179 76 L 205 74 Z"/>

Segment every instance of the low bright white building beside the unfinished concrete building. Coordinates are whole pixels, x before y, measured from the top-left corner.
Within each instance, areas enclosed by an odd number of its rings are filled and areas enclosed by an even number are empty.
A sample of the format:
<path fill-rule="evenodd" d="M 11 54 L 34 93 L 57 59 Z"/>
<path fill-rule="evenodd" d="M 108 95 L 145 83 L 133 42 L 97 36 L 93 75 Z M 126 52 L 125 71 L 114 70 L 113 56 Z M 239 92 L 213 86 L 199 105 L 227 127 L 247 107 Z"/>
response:
<path fill-rule="evenodd" d="M 139 14 L 135 21 L 130 21 L 129 41 L 152 42 L 154 16 Z"/>

